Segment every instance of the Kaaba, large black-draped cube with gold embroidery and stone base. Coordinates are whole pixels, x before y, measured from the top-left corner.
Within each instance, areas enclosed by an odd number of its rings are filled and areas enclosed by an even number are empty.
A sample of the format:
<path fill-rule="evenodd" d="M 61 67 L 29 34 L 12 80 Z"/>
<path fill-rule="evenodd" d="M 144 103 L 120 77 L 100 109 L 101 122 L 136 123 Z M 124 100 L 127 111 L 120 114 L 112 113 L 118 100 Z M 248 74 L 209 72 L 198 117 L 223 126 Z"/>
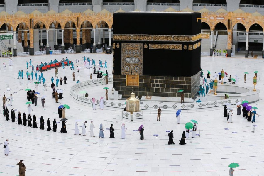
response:
<path fill-rule="evenodd" d="M 128 98 L 194 98 L 201 70 L 201 13 L 113 14 L 113 87 Z"/>

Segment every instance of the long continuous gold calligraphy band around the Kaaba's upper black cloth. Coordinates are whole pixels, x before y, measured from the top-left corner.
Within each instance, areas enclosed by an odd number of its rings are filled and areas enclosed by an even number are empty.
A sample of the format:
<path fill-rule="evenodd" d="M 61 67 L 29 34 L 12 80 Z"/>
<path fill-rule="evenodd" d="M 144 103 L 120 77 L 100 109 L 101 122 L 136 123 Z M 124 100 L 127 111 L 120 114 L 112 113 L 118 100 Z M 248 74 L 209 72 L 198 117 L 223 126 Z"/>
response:
<path fill-rule="evenodd" d="M 138 34 L 115 34 L 113 40 L 132 41 L 160 41 L 160 42 L 194 42 L 201 39 L 201 33 L 197 35 L 138 35 Z"/>

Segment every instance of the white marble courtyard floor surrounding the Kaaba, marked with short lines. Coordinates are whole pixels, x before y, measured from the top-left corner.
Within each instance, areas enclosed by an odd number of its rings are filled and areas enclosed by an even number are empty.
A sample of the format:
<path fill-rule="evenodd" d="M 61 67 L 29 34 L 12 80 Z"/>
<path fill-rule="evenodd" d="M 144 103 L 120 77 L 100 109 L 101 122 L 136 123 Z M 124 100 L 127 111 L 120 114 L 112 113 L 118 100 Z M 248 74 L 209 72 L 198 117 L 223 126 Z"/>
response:
<path fill-rule="evenodd" d="M 83 56 L 95 59 L 98 63 L 99 59 L 107 60 L 108 73 L 112 72 L 111 55 L 105 54 L 67 54 L 67 55 L 44 55 L 34 57 L 16 57 L 13 58 L 14 65 L 8 66 L 8 59 L 0 58 L 0 97 L 3 94 L 13 94 L 13 106 L 8 106 L 18 111 L 28 112 L 25 103 L 26 88 L 34 88 L 33 83 L 28 84 L 25 79 L 26 61 L 31 58 L 33 64 L 36 62 L 48 62 L 50 60 L 62 59 L 68 57 L 75 61 L 79 58 L 82 64 Z M 3 70 L 3 62 L 6 63 L 6 70 Z M 175 114 L 161 115 L 161 121 L 156 121 L 156 114 L 144 114 L 144 122 L 129 123 L 123 122 L 121 113 L 112 110 L 97 110 L 79 105 L 70 99 L 70 86 L 76 83 L 72 80 L 72 72 L 69 67 L 65 70 L 59 68 L 58 76 L 68 78 L 67 84 L 59 86 L 63 89 L 62 100 L 55 103 L 55 99 L 51 98 L 50 78 L 55 76 L 54 70 L 43 72 L 46 78 L 48 91 L 39 89 L 41 96 L 48 95 L 45 107 L 42 108 L 41 102 L 38 106 L 33 106 L 37 118 L 44 117 L 45 122 L 49 117 L 50 120 L 56 118 L 57 106 L 68 104 L 70 109 L 66 110 L 67 131 L 68 133 L 60 133 L 61 123 L 58 123 L 57 132 L 40 130 L 39 128 L 30 128 L 28 126 L 18 125 L 17 122 L 12 123 L 6 121 L 3 115 L 0 115 L 0 143 L 9 139 L 10 155 L 0 155 L 0 174 L 1 175 L 18 175 L 19 160 L 24 160 L 26 165 L 26 175 L 151 175 L 151 176 L 215 176 L 228 175 L 230 163 L 239 163 L 240 167 L 235 169 L 234 174 L 240 176 L 261 176 L 264 175 L 264 133 L 263 133 L 263 89 L 264 84 L 264 60 L 252 58 L 211 58 L 202 57 L 201 67 L 204 72 L 210 70 L 211 73 L 220 72 L 223 68 L 228 74 L 238 75 L 241 79 L 239 84 L 252 86 L 253 88 L 253 72 L 258 70 L 257 89 L 260 89 L 260 101 L 253 104 L 259 110 L 260 115 L 253 124 L 246 121 L 242 116 L 233 115 L 233 123 L 227 123 L 223 117 L 223 110 L 207 110 L 203 112 L 183 113 L 181 124 L 176 123 Z M 83 67 L 83 66 L 80 66 Z M 31 68 L 31 67 L 30 67 Z M 18 70 L 23 70 L 24 79 L 18 80 Z M 30 70 L 30 69 L 28 69 Z M 105 69 L 103 69 L 105 71 Z M 77 67 L 75 66 L 75 72 Z M 243 83 L 243 72 L 249 72 L 246 83 Z M 80 81 L 89 79 L 90 71 L 81 69 Z M 35 77 L 35 76 L 34 76 Z M 111 77 L 111 75 L 110 75 Z M 259 80 L 260 79 L 260 80 Z M 19 89 L 19 82 L 22 84 L 23 90 Z M 11 91 L 6 90 L 9 84 Z M 91 87 L 88 90 L 90 96 L 100 96 L 97 87 Z M 93 92 L 97 92 L 93 94 Z M 101 93 L 104 93 L 102 90 Z M 11 119 L 11 118 L 10 118 Z M 94 134 L 96 137 L 89 136 L 87 128 L 87 136 L 74 135 L 74 123 L 76 119 L 81 119 L 79 126 L 83 121 L 94 121 L 96 129 Z M 184 125 L 191 119 L 198 121 L 197 133 L 201 136 L 194 139 L 187 139 L 187 145 L 179 145 Z M 38 120 L 38 127 L 39 127 Z M 99 125 L 103 124 L 105 138 L 99 138 Z M 126 123 L 126 139 L 121 139 L 121 124 Z M 114 125 L 115 139 L 109 138 L 110 124 Z M 139 133 L 136 131 L 138 127 L 144 124 L 145 139 L 141 141 Z M 252 133 L 253 125 L 255 133 Z M 45 128 L 46 124 L 45 124 Z M 81 127 L 79 127 L 81 130 Z M 167 145 L 167 131 L 174 130 L 175 145 Z M 158 134 L 158 138 L 153 136 Z M 3 146 L 3 145 L 1 145 Z"/>

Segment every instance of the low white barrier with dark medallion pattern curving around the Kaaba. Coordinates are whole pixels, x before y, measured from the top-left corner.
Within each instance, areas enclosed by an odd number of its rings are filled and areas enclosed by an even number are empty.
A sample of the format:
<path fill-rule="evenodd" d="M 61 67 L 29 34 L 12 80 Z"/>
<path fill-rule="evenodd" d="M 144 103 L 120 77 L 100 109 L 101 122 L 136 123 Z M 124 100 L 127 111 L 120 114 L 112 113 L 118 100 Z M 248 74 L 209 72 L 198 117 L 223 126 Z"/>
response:
<path fill-rule="evenodd" d="M 108 78 L 108 82 L 112 82 L 112 78 Z M 85 87 L 85 86 L 94 86 L 96 84 L 102 84 L 102 82 L 104 82 L 105 79 L 101 78 L 101 79 L 92 79 L 92 80 L 88 80 L 88 81 L 83 81 L 83 82 L 79 82 L 75 85 L 73 85 L 71 87 L 70 90 L 70 95 L 72 96 L 73 99 L 76 100 L 76 102 L 80 103 L 80 104 L 86 104 L 88 106 L 92 106 L 92 98 L 88 98 L 85 97 L 84 95 L 80 95 L 76 92 L 77 89 Z M 111 92 L 109 91 L 109 94 Z M 181 110 L 187 110 L 187 111 L 199 111 L 206 109 L 206 108 L 221 108 L 221 106 L 224 106 L 224 104 L 229 103 L 231 105 L 236 105 L 236 103 L 238 103 L 238 101 L 243 101 L 245 99 L 225 99 L 225 100 L 216 100 L 216 101 L 207 101 L 207 102 L 201 102 L 201 103 L 185 103 L 185 104 L 181 104 L 181 103 L 172 103 L 172 102 L 165 102 L 165 103 L 157 103 L 157 104 L 151 104 L 151 103 L 143 103 L 140 104 L 140 109 L 142 111 L 146 111 L 146 112 L 150 112 L 152 113 L 156 113 L 158 107 L 160 107 L 160 109 L 163 112 L 176 112 L 177 110 L 181 109 Z M 96 105 L 100 104 L 100 100 L 96 99 L 95 101 Z M 125 104 L 125 100 L 123 102 L 121 101 L 104 101 L 104 106 L 108 109 L 113 109 L 113 110 L 122 110 L 126 107 Z"/>

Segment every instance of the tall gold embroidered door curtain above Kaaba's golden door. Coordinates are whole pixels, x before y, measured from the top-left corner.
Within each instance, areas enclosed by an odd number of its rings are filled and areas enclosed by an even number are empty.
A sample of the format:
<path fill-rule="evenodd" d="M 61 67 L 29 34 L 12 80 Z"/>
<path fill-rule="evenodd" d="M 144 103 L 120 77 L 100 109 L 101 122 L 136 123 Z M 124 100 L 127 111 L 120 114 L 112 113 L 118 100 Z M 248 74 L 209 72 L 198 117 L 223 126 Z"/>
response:
<path fill-rule="evenodd" d="M 122 43 L 121 74 L 142 75 L 143 43 Z"/>

